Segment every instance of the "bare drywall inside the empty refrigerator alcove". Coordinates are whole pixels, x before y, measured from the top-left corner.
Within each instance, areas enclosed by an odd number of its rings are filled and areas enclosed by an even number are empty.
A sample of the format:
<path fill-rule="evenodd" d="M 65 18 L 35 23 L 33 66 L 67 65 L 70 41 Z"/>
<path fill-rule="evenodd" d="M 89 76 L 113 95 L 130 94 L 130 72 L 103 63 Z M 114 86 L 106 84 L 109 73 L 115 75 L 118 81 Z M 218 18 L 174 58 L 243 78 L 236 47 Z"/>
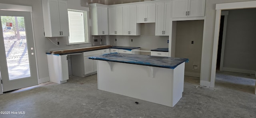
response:
<path fill-rule="evenodd" d="M 200 77 L 203 30 L 204 20 L 177 21 L 175 57 L 189 59 L 186 76 Z"/>

